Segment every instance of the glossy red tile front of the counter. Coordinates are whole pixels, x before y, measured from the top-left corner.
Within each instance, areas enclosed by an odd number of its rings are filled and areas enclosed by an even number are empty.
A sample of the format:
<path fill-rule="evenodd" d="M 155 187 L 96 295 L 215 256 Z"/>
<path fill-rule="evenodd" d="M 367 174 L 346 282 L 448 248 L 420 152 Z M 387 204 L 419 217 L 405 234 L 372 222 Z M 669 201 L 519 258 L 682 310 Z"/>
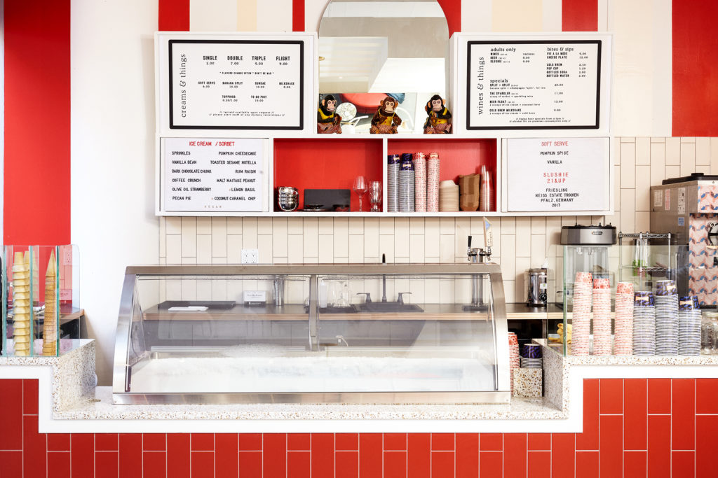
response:
<path fill-rule="evenodd" d="M 38 434 L 37 380 L 0 380 L 0 477 L 715 477 L 717 397 L 586 380 L 581 434 Z"/>

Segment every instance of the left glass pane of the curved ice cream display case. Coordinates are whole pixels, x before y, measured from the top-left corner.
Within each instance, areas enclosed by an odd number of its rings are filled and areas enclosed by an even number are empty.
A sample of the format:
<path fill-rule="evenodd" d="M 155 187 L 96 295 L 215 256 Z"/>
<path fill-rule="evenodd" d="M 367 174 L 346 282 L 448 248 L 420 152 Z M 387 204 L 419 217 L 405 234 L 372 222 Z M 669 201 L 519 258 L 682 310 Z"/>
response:
<path fill-rule="evenodd" d="M 309 344 L 309 277 L 147 276 L 135 285 L 126 391 L 257 393 Z"/>

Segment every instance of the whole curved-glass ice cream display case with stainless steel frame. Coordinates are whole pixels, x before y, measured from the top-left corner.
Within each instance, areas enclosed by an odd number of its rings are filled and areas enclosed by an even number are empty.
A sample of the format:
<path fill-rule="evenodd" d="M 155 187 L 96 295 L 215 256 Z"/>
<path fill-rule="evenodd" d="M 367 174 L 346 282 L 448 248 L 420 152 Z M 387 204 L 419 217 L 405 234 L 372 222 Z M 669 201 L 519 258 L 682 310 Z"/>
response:
<path fill-rule="evenodd" d="M 508 403 L 500 267 L 127 267 L 113 401 Z"/>

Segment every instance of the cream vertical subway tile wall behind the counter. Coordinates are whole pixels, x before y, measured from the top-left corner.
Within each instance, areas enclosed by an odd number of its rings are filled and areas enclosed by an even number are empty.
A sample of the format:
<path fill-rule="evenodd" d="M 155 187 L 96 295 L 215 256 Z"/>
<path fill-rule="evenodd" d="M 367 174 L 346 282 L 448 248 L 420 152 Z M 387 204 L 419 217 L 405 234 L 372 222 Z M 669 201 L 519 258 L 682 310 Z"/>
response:
<path fill-rule="evenodd" d="M 718 174 L 718 138 L 615 138 L 615 214 L 612 216 L 492 217 L 493 261 L 501 264 L 506 300 L 526 300 L 523 274 L 549 261 L 549 297 L 561 287 L 561 226 L 610 222 L 624 232 L 648 231 L 648 188 L 663 178 Z M 241 249 L 258 249 L 261 262 L 464 262 L 467 236 L 483 244 L 480 218 L 159 218 L 160 264 L 232 264 Z M 220 295 L 223 285 L 167 282 L 168 289 Z M 442 294 L 439 287 L 406 290 Z M 185 291 L 186 289 L 186 291 Z M 219 289 L 219 290 L 218 290 Z M 443 291 L 449 294 L 449 291 Z M 172 295 L 169 290 L 168 296 Z"/>

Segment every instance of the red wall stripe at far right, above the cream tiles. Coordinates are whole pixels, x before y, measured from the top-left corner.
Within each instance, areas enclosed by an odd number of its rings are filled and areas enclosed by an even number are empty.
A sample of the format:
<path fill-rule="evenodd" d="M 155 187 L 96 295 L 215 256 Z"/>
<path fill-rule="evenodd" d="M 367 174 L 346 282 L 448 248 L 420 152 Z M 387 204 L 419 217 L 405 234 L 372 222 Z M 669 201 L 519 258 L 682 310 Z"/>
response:
<path fill-rule="evenodd" d="M 673 1 L 673 136 L 718 133 L 714 0 Z"/>

